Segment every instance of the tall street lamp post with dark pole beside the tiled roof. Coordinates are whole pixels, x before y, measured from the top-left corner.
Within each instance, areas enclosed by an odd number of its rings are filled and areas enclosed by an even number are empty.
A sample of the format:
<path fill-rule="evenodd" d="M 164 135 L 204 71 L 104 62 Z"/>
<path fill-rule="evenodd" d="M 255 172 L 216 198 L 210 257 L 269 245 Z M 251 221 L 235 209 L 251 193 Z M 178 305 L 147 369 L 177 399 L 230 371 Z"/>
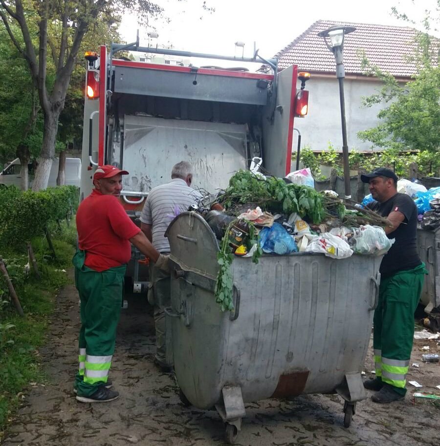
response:
<path fill-rule="evenodd" d="M 327 48 L 333 53 L 336 60 L 336 77 L 339 82 L 339 100 L 341 103 L 341 122 L 342 122 L 342 158 L 344 164 L 344 185 L 345 198 L 351 199 L 350 189 L 350 166 L 349 166 L 349 150 L 347 144 L 347 123 L 345 118 L 345 98 L 344 98 L 344 78 L 345 69 L 343 62 L 344 37 L 346 34 L 352 33 L 356 28 L 354 26 L 332 26 L 325 31 L 318 33 L 319 37 L 324 39 Z M 330 43 L 329 43 L 330 40 Z"/>

